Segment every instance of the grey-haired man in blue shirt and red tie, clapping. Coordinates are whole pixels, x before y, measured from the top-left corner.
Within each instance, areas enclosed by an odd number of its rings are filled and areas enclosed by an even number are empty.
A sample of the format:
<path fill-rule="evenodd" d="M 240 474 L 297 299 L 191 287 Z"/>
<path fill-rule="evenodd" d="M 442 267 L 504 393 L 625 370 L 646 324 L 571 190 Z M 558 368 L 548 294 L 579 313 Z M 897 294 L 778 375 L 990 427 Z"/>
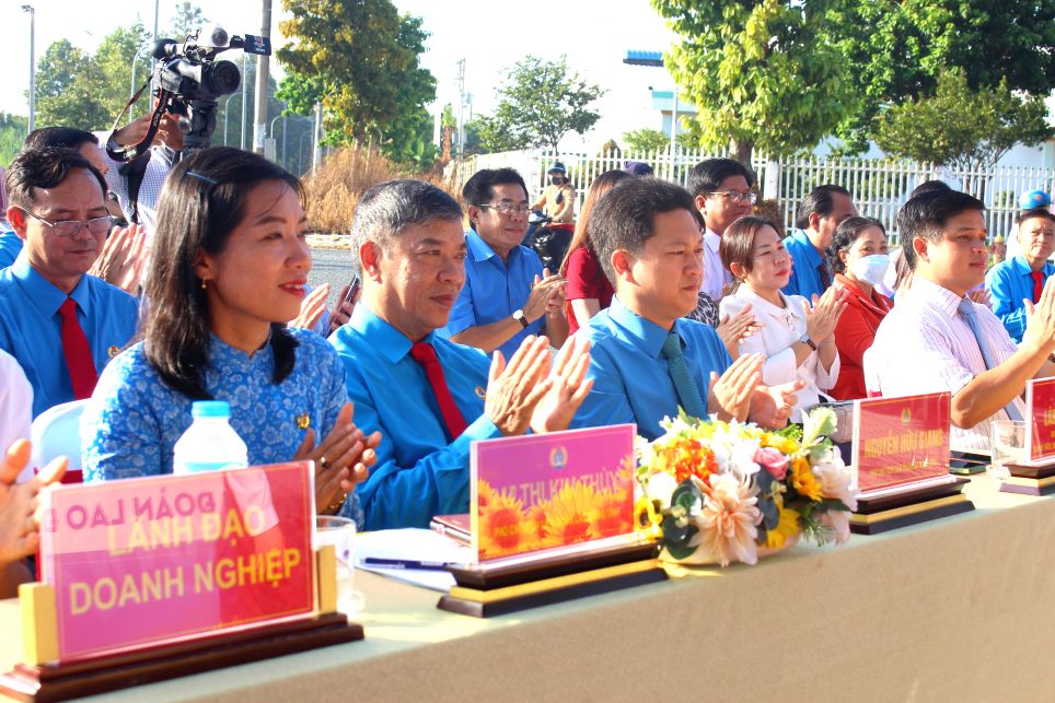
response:
<path fill-rule="evenodd" d="M 428 527 L 468 511 L 473 441 L 568 426 L 590 390 L 588 347 L 567 344 L 552 362 L 547 339 L 529 337 L 507 362 L 436 333 L 465 283 L 466 244 L 462 209 L 434 186 L 371 188 L 351 238 L 362 301 L 329 341 L 356 424 L 383 437 L 358 487 L 366 527 Z"/>

